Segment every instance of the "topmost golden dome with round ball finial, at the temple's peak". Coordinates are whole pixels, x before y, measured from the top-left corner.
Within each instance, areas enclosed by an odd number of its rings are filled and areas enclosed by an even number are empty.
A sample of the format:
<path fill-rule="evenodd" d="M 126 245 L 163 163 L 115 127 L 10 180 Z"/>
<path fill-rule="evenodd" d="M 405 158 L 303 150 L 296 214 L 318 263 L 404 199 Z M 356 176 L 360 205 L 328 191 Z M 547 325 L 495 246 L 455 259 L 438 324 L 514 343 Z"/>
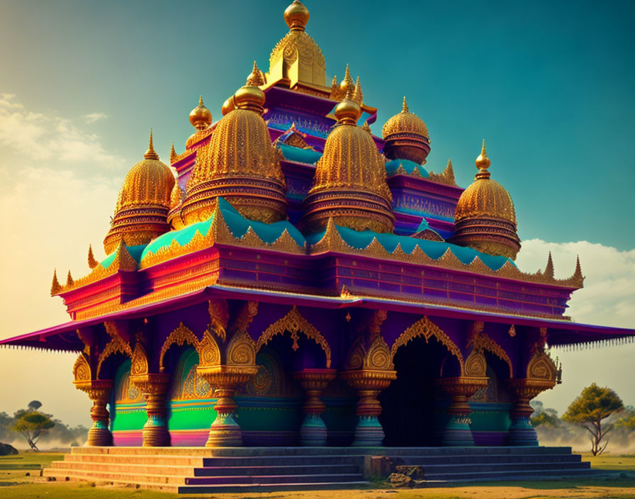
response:
<path fill-rule="evenodd" d="M 288 79 L 290 86 L 297 82 L 325 86 L 324 55 L 315 40 L 305 33 L 308 9 L 295 0 L 284 11 L 284 19 L 291 29 L 271 51 L 267 82 Z"/>

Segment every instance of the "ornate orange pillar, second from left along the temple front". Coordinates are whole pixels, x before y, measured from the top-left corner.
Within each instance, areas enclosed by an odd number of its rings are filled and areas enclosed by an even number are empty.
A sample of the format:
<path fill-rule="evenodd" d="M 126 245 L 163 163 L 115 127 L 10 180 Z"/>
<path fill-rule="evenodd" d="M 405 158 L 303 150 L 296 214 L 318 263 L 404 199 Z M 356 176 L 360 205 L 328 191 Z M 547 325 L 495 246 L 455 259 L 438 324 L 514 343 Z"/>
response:
<path fill-rule="evenodd" d="M 145 397 L 147 421 L 143 425 L 143 447 L 169 447 L 170 432 L 167 427 L 165 396 L 169 385 L 167 374 L 139 374 L 130 376 Z"/>

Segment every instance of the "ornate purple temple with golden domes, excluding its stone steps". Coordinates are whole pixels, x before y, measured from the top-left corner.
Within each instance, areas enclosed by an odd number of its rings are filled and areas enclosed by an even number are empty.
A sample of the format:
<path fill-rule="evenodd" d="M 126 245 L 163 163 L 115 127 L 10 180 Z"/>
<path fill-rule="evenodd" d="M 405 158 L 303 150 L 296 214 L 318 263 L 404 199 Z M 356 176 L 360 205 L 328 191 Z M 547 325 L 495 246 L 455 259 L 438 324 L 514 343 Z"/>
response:
<path fill-rule="evenodd" d="M 308 9 L 284 20 L 269 71 L 246 62 L 215 122 L 201 96 L 169 165 L 140 145 L 106 257 L 53 274 L 69 322 L 1 343 L 77 352 L 89 446 L 536 446 L 549 347 L 635 332 L 566 315 L 579 261 L 516 267 L 485 142 L 460 146 L 466 189 L 451 161 L 432 172 L 406 99 L 373 135 L 361 79 L 327 83 Z"/>

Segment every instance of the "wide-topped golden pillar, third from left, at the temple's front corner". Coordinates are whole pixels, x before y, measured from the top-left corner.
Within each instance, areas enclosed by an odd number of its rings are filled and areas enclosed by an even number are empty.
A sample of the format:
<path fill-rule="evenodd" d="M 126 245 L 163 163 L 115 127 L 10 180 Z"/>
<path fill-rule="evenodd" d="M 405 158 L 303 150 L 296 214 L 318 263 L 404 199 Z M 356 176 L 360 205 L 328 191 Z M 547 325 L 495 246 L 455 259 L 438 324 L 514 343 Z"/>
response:
<path fill-rule="evenodd" d="M 258 366 L 198 366 L 197 372 L 215 388 L 217 398 L 214 410 L 216 419 L 210 427 L 210 436 L 206 447 L 239 447 L 242 445 L 240 425 L 234 418 L 237 404 L 235 391 L 252 379 L 258 372 Z"/>

